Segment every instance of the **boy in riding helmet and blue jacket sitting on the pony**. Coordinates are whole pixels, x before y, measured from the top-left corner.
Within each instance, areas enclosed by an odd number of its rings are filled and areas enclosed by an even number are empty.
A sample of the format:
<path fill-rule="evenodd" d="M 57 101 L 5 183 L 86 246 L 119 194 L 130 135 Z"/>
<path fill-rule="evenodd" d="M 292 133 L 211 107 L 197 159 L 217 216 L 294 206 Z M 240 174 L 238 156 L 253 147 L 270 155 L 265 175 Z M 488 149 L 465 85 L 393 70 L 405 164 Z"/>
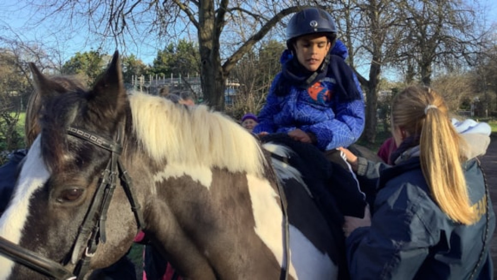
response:
<path fill-rule="evenodd" d="M 331 162 L 329 187 L 341 213 L 363 215 L 365 196 L 350 166 L 337 150 L 359 139 L 364 129 L 364 100 L 347 49 L 336 39 L 331 15 L 305 8 L 286 29 L 287 50 L 274 78 L 253 134 L 284 133 L 316 145 Z M 351 187 L 354 186 L 354 187 Z"/>

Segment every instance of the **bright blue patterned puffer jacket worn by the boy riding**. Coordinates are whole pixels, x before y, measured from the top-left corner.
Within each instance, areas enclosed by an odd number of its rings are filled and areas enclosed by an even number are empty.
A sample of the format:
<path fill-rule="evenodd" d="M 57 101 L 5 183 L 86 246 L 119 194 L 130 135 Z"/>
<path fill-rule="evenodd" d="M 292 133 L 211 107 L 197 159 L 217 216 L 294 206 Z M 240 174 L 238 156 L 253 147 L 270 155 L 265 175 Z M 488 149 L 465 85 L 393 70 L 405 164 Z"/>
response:
<path fill-rule="evenodd" d="M 360 137 L 364 129 L 362 90 L 355 73 L 343 61 L 348 55 L 345 45 L 337 40 L 330 54 L 325 76 L 307 88 L 285 80 L 282 72 L 276 75 L 253 133 L 288 133 L 298 128 L 313 133 L 321 150 L 346 147 Z M 283 52 L 283 67 L 293 61 L 290 51 Z M 347 70 L 348 77 L 341 77 L 342 70 Z M 357 97 L 344 98 L 352 87 L 358 91 Z M 285 92 L 279 92 L 281 88 Z"/>

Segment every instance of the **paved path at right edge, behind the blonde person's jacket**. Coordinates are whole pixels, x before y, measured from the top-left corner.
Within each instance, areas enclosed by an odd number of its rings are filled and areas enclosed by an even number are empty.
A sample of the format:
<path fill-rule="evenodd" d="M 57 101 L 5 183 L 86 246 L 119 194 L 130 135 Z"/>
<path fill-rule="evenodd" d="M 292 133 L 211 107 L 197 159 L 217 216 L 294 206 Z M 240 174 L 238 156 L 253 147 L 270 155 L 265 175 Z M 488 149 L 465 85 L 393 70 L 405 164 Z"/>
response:
<path fill-rule="evenodd" d="M 487 176 L 494 212 L 497 213 L 497 136 L 492 138 L 487 154 L 482 156 L 480 160 Z M 494 260 L 494 279 L 497 279 L 497 233 L 494 233 L 490 246 Z"/>

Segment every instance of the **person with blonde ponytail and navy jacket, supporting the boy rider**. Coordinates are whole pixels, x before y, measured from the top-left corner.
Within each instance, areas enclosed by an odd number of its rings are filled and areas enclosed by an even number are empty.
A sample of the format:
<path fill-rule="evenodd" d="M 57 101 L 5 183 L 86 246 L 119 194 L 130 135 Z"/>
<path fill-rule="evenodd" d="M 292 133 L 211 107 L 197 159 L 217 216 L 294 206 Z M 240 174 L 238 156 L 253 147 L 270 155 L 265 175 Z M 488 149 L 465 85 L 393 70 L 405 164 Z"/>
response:
<path fill-rule="evenodd" d="M 451 122 L 442 97 L 411 86 L 392 104 L 393 166 L 347 153 L 377 179 L 371 216 L 345 217 L 352 279 L 492 279 L 495 214 L 476 156 L 490 127 Z M 371 218 L 372 217 L 372 218 Z"/>

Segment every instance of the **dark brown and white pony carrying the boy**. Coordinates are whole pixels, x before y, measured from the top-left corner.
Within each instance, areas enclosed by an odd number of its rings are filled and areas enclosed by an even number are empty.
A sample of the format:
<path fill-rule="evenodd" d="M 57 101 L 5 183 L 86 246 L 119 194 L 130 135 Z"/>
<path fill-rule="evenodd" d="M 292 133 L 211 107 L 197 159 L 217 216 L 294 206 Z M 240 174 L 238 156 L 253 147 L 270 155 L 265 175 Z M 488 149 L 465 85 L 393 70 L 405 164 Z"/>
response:
<path fill-rule="evenodd" d="M 0 279 L 90 278 L 139 229 L 185 279 L 347 274 L 341 224 L 313 202 L 288 147 L 207 106 L 127 92 L 117 52 L 83 93 L 55 96 L 30 67 L 42 131 L 0 219 Z"/>

